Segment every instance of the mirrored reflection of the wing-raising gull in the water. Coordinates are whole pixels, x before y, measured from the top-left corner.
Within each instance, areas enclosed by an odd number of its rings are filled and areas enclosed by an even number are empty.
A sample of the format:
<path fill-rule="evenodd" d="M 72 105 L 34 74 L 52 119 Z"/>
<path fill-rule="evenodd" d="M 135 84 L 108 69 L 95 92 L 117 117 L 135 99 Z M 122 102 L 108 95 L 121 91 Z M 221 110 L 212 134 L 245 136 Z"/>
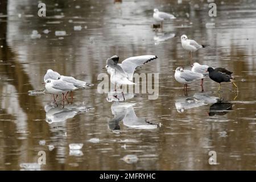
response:
<path fill-rule="evenodd" d="M 112 131 L 121 130 L 119 122 L 123 121 L 123 125 L 133 129 L 156 129 L 158 124 L 148 122 L 146 118 L 138 118 L 134 112 L 135 104 L 131 103 L 114 103 L 111 106 L 114 118 L 109 121 L 109 129 Z"/>

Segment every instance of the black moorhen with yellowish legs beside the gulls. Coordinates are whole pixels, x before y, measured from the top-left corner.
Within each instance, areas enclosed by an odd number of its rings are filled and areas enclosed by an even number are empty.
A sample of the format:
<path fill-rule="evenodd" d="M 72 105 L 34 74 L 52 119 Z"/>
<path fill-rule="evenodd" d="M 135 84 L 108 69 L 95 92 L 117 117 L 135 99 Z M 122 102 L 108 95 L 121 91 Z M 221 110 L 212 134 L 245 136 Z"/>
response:
<path fill-rule="evenodd" d="M 231 76 L 232 72 L 230 72 L 230 75 L 228 75 L 228 73 L 225 73 L 225 72 L 229 72 L 229 71 L 226 70 L 225 68 L 218 68 L 219 71 L 216 71 L 216 69 L 209 67 L 207 69 L 207 72 L 209 72 L 210 79 L 220 84 L 220 86 L 218 87 L 218 91 L 221 88 L 221 82 L 232 82 L 232 84 L 236 86 L 236 89 L 238 90 L 237 85 L 234 83 L 234 78 Z M 224 72 L 220 72 L 220 71 L 224 71 Z"/>

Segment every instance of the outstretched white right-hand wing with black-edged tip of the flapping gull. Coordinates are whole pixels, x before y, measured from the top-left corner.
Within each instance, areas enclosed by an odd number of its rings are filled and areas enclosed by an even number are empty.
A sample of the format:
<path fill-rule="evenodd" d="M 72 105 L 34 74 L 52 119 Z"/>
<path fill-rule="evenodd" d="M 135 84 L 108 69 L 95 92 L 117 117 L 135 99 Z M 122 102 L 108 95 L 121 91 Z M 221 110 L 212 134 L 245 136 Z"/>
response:
<path fill-rule="evenodd" d="M 126 73 L 128 73 L 129 80 L 132 80 L 133 73 L 137 67 L 142 66 L 143 64 L 146 64 L 156 58 L 158 58 L 158 56 L 155 56 L 155 55 L 129 57 L 122 61 L 122 67 L 123 67 L 123 70 Z"/>

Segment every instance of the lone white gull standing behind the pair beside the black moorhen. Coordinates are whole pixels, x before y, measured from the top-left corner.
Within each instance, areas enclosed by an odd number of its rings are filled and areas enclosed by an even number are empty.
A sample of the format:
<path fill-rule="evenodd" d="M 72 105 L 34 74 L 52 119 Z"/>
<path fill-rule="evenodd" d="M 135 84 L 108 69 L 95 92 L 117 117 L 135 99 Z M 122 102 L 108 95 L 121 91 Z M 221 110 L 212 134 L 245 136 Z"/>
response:
<path fill-rule="evenodd" d="M 180 39 L 181 39 L 182 47 L 185 50 L 191 52 L 191 61 L 192 61 L 192 52 L 196 52 L 200 48 L 204 48 L 204 47 L 209 46 L 209 45 L 200 45 L 195 40 L 188 39 L 187 35 L 182 35 Z"/>

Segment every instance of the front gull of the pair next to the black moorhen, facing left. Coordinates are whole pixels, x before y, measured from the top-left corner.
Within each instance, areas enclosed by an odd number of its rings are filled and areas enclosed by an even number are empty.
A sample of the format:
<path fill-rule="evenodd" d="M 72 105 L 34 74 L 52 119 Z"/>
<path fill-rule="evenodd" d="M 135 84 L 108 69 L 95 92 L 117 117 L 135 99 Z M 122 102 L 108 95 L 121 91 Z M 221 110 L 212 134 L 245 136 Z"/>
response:
<path fill-rule="evenodd" d="M 184 84 L 184 90 L 187 90 L 188 84 L 197 79 L 201 79 L 204 77 L 201 73 L 192 72 L 190 70 L 183 69 L 182 67 L 177 67 L 175 70 L 175 80 Z"/>

